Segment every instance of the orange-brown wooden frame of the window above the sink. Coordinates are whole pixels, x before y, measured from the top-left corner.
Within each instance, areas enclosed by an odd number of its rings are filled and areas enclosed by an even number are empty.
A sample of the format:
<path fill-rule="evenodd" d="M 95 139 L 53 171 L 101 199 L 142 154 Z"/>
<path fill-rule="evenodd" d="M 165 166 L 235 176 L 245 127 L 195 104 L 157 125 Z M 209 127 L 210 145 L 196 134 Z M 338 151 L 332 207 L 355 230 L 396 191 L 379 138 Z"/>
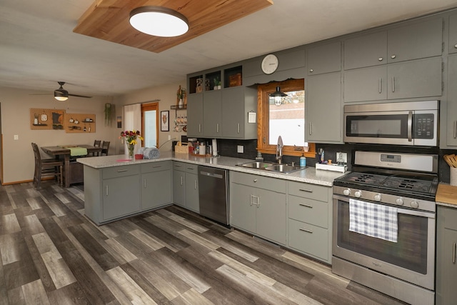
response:
<path fill-rule="evenodd" d="M 288 79 L 286 81 L 276 81 L 257 86 L 257 151 L 262 154 L 276 154 L 276 145 L 268 144 L 269 140 L 269 94 L 276 91 L 276 86 L 281 87 L 281 91 L 299 91 L 305 89 L 305 79 Z M 306 111 L 306 99 L 305 99 Z M 305 112 L 306 114 L 306 112 Z M 303 126 L 303 129 L 305 126 Z M 302 146 L 283 146 L 283 155 L 286 156 L 316 156 L 316 144 L 308 142 L 308 151 L 303 151 Z"/>

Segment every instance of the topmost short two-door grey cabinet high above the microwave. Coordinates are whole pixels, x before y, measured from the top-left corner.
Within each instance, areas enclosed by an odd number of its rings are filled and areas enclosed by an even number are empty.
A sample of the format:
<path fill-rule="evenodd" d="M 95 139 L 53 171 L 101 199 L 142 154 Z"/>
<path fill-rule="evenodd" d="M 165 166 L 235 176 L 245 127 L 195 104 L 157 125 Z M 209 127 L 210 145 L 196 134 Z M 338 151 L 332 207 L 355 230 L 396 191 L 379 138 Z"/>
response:
<path fill-rule="evenodd" d="M 441 56 L 442 49 L 443 19 L 430 19 L 346 39 L 344 69 Z"/>

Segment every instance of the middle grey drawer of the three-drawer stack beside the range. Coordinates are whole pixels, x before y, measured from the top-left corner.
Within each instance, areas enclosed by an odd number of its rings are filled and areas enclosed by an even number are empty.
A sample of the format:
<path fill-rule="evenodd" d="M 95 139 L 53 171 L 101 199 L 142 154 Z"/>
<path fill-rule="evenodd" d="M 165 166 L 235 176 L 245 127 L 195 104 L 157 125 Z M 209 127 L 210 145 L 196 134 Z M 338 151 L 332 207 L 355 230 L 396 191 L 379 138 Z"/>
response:
<path fill-rule="evenodd" d="M 328 204 L 297 196 L 288 196 L 288 217 L 328 228 Z"/>

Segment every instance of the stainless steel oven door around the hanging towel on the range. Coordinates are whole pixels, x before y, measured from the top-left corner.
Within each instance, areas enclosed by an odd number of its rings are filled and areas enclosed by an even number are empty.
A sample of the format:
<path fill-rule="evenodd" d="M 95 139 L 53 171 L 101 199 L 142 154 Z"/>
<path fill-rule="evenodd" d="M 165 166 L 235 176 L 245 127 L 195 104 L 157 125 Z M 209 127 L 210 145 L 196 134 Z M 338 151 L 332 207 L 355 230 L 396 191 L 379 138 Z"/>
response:
<path fill-rule="evenodd" d="M 396 243 L 358 234 L 349 231 L 349 199 L 333 195 L 333 256 L 434 290 L 435 221 L 430 212 L 398 209 Z"/>

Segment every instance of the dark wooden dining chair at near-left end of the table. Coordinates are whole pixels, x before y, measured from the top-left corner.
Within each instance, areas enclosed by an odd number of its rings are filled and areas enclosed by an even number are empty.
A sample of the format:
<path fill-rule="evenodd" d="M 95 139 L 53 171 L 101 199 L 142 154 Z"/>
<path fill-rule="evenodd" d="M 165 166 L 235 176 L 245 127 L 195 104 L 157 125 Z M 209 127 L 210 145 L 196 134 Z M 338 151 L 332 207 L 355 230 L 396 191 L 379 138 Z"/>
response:
<path fill-rule="evenodd" d="M 38 145 L 35 143 L 31 144 L 34 149 L 35 157 L 35 174 L 34 174 L 34 186 L 39 189 L 41 186 L 41 178 L 55 177 L 57 182 L 62 186 L 63 181 L 63 170 L 64 161 L 58 159 L 42 159 Z"/>

